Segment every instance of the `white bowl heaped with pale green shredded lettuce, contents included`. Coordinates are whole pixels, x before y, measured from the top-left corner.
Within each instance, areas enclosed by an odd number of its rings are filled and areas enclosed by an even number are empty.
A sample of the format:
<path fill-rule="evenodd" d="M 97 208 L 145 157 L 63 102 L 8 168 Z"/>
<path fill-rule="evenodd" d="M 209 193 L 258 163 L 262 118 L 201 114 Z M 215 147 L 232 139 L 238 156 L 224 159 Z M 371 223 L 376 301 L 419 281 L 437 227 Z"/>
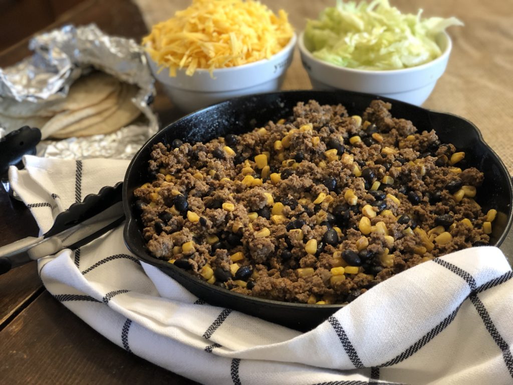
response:
<path fill-rule="evenodd" d="M 401 13 L 388 0 L 343 2 L 308 20 L 299 37 L 313 88 L 345 89 L 421 105 L 444 73 L 447 27 L 457 18 Z"/>

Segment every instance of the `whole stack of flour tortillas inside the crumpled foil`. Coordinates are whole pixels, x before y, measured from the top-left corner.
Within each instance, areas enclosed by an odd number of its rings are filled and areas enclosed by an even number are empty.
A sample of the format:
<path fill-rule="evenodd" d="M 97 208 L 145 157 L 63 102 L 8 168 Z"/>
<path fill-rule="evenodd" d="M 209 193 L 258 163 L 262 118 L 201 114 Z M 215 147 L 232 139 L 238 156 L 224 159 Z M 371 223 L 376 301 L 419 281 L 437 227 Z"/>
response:
<path fill-rule="evenodd" d="M 141 113 L 131 101 L 136 93 L 134 85 L 93 72 L 75 81 L 64 99 L 45 103 L 0 101 L 0 127 L 7 131 L 37 127 L 43 139 L 110 133 Z"/>

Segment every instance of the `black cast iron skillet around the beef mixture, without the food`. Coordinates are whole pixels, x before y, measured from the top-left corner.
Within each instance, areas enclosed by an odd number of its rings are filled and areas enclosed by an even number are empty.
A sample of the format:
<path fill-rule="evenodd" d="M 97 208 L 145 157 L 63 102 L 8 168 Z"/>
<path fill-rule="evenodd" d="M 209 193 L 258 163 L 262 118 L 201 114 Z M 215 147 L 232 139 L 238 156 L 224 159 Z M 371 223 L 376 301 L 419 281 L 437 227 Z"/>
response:
<path fill-rule="evenodd" d="M 206 142 L 230 132 L 247 132 L 264 126 L 269 120 L 287 118 L 298 102 L 307 102 L 310 99 L 321 104 L 342 103 L 349 115 L 361 115 L 374 99 L 389 101 L 392 103 L 393 117 L 411 120 L 419 131 L 435 129 L 442 143 L 452 143 L 458 150 L 465 151 L 468 165 L 477 167 L 485 176 L 476 200 L 485 212 L 496 208 L 499 213 L 494 221 L 491 244 L 499 246 L 502 243 L 512 222 L 513 186 L 506 167 L 483 141 L 475 125 L 456 115 L 429 111 L 374 95 L 346 91 L 288 91 L 233 99 L 194 112 L 156 133 L 137 152 L 123 183 L 123 204 L 127 218 L 124 238 L 130 251 L 213 305 L 229 307 L 289 328 L 309 330 L 339 310 L 342 305 L 287 303 L 233 293 L 195 278 L 173 264 L 153 258 L 146 248 L 141 232 L 142 225 L 133 205 L 133 190 L 152 180 L 148 172 L 148 160 L 154 144 L 171 143 L 173 139 L 191 143 Z"/>

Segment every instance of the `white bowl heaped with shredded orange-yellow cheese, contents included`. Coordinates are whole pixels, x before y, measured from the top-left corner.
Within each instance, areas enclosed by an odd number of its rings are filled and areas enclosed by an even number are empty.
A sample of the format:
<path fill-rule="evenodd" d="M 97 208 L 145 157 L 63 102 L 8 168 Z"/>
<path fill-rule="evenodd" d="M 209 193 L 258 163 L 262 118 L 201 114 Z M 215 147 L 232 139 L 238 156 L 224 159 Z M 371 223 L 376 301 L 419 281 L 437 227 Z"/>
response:
<path fill-rule="evenodd" d="M 278 90 L 296 36 L 285 11 L 252 0 L 193 0 L 143 39 L 148 63 L 184 112 Z"/>

